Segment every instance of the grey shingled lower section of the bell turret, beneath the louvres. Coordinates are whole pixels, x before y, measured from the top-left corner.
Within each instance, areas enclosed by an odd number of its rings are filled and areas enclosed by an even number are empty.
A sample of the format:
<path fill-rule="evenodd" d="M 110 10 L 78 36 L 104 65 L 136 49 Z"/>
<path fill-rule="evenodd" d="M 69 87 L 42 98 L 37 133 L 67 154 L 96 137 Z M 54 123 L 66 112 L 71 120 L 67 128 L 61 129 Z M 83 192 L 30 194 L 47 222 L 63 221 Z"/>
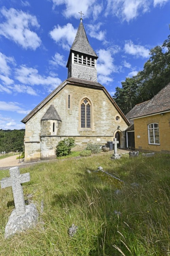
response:
<path fill-rule="evenodd" d="M 97 82 L 97 69 L 95 67 L 72 63 L 70 76 Z"/>

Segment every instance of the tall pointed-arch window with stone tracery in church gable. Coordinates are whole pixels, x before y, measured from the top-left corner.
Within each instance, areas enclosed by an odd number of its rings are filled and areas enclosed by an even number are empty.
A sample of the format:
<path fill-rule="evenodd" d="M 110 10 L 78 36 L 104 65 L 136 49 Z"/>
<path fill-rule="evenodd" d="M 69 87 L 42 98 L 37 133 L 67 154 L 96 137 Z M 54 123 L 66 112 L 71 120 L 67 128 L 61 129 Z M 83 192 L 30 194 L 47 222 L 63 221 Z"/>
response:
<path fill-rule="evenodd" d="M 88 99 L 81 102 L 81 128 L 91 128 L 91 104 Z"/>

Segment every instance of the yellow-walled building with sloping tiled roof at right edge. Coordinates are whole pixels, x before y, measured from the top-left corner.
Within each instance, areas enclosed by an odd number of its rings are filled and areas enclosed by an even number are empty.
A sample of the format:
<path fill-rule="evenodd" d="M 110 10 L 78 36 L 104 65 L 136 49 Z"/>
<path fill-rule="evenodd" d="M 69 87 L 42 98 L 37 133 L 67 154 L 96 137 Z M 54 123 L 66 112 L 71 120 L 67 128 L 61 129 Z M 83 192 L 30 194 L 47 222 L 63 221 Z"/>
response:
<path fill-rule="evenodd" d="M 126 117 L 134 121 L 137 150 L 170 153 L 170 83 Z"/>

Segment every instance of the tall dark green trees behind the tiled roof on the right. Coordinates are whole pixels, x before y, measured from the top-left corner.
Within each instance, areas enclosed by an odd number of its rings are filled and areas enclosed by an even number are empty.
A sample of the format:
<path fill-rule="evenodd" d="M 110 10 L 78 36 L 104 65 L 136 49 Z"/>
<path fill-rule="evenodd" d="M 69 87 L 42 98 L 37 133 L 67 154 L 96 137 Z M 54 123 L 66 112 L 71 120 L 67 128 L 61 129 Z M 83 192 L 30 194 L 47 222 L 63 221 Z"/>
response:
<path fill-rule="evenodd" d="M 150 100 L 170 83 L 170 35 L 163 45 L 151 49 L 150 58 L 136 76 L 126 77 L 122 88 L 116 87 L 114 100 L 127 114 L 136 104 Z"/>

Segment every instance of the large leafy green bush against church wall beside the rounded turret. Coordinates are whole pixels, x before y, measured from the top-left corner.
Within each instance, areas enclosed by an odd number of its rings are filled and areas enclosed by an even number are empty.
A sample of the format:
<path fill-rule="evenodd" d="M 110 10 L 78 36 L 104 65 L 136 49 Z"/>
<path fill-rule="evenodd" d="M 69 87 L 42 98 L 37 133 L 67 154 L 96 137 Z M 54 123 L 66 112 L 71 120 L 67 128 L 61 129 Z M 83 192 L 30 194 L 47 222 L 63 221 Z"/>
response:
<path fill-rule="evenodd" d="M 73 138 L 64 139 L 58 142 L 56 146 L 55 154 L 56 156 L 67 156 L 71 152 L 71 148 L 74 147 L 75 140 Z"/>

